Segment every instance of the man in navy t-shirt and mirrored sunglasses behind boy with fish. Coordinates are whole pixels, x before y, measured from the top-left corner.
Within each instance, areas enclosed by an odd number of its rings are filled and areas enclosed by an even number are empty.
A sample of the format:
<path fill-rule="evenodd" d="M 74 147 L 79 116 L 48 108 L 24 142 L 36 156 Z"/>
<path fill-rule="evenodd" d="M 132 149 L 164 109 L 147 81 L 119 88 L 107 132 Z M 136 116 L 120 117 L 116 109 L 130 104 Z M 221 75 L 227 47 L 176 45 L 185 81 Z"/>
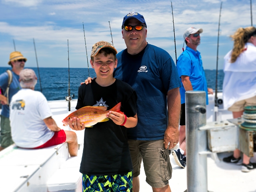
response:
<path fill-rule="evenodd" d="M 116 55 L 114 77 L 128 83 L 138 95 L 138 124 L 127 130 L 133 191 L 140 190 L 138 176 L 143 160 L 146 182 L 153 192 L 170 192 L 169 155 L 179 138 L 181 84 L 177 68 L 166 51 L 147 43 L 146 21 L 139 13 L 124 16 L 122 36 L 127 49 Z"/>

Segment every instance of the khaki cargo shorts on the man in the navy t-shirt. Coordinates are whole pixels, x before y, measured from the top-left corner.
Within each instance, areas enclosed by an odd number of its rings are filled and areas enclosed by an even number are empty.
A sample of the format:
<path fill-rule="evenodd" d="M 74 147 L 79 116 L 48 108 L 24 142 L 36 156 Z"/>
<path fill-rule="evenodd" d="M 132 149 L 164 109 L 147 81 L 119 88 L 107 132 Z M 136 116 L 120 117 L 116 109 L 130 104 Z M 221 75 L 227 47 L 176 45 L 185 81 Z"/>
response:
<path fill-rule="evenodd" d="M 140 175 L 143 160 L 146 182 L 154 188 L 162 188 L 172 177 L 170 150 L 164 148 L 164 140 L 128 140 L 132 157 L 133 177 Z"/>

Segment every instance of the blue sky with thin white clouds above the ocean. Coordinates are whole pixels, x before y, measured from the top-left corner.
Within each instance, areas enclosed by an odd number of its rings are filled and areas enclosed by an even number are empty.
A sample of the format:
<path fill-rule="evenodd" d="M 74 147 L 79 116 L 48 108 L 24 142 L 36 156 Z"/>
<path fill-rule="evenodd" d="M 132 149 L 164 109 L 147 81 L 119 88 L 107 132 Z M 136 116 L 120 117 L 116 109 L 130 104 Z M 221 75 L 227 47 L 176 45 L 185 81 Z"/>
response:
<path fill-rule="evenodd" d="M 182 52 L 184 31 L 191 26 L 203 28 L 198 50 L 204 68 L 215 69 L 220 1 L 173 0 L 172 5 L 177 56 Z M 252 8 L 255 26 L 256 0 L 252 0 Z M 87 68 L 82 22 L 88 57 L 94 43 L 111 41 L 108 21 L 119 52 L 126 48 L 121 34 L 122 20 L 132 11 L 144 16 L 148 43 L 163 48 L 175 60 L 170 0 L 0 0 L 0 66 L 8 66 L 14 39 L 16 50 L 28 58 L 26 67 L 36 67 L 35 38 L 40 67 L 68 67 L 68 39 L 70 67 Z M 229 36 L 237 28 L 250 24 L 250 0 L 223 1 L 219 69 L 233 45 Z"/>

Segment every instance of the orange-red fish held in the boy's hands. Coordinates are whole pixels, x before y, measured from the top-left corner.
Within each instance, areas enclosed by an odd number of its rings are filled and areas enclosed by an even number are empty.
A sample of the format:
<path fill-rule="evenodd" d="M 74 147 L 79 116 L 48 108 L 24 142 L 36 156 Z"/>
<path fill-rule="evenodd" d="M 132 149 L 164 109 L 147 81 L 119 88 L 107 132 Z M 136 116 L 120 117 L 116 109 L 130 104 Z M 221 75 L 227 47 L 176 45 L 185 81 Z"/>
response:
<path fill-rule="evenodd" d="M 62 120 L 62 122 L 64 123 L 63 126 L 68 126 L 70 119 L 73 117 L 77 117 L 80 120 L 80 126 L 82 126 L 82 123 L 84 123 L 85 127 L 92 127 L 92 125 L 95 125 L 98 122 L 108 121 L 109 118 L 106 118 L 106 115 L 110 111 L 124 114 L 122 111 L 120 111 L 120 107 L 121 102 L 108 111 L 107 107 L 104 106 L 86 106 L 72 112 L 66 118 L 64 118 L 64 120 Z"/>

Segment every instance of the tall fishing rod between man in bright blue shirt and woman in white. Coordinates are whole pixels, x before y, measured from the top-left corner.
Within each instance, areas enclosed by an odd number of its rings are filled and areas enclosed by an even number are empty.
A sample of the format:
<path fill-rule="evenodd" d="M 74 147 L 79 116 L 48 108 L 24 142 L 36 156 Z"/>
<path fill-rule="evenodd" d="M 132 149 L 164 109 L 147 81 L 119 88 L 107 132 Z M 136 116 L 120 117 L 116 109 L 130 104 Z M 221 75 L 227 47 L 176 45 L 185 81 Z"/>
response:
<path fill-rule="evenodd" d="M 221 16 L 222 2 L 220 3 L 220 16 Z M 218 25 L 218 43 L 217 43 L 217 61 L 216 61 L 216 82 L 215 82 L 215 106 L 214 106 L 214 121 L 217 121 L 218 116 L 218 60 L 219 60 L 219 38 L 220 38 L 220 16 Z"/>

